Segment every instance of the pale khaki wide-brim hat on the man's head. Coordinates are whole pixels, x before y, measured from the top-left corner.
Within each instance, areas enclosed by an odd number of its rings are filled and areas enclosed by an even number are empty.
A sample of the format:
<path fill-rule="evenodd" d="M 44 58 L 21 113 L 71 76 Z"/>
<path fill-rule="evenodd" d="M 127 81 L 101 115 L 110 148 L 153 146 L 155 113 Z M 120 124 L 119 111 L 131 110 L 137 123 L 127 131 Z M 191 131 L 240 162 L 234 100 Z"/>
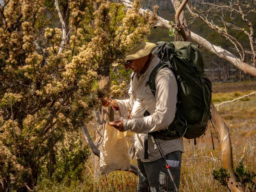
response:
<path fill-rule="evenodd" d="M 139 44 L 134 46 L 130 51 L 125 55 L 125 60 L 139 59 L 150 54 L 151 50 L 156 47 L 156 44 L 151 42 L 141 41 Z"/>

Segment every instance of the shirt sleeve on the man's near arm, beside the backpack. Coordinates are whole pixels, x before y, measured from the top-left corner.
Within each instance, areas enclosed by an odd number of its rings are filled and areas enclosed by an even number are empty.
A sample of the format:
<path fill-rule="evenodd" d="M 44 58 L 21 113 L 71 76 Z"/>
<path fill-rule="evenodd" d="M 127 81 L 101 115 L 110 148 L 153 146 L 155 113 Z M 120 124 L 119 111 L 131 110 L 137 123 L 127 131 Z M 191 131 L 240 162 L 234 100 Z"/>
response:
<path fill-rule="evenodd" d="M 153 114 L 137 119 L 124 120 L 124 130 L 150 133 L 167 128 L 173 122 L 177 103 L 177 81 L 168 68 L 156 76 L 156 110 Z"/>

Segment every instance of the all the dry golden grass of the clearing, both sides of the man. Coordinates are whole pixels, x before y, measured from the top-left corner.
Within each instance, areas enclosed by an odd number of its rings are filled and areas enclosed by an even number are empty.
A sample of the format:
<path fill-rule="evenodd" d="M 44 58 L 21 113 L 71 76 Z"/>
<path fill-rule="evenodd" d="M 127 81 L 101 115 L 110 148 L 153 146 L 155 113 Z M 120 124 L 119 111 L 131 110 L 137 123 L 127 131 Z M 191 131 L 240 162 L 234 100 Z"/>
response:
<path fill-rule="evenodd" d="M 256 82 L 213 83 L 213 102 L 217 104 L 232 100 L 251 91 L 256 91 Z M 256 172 L 256 95 L 221 105 L 219 113 L 230 129 L 234 166 L 243 159 L 245 166 Z M 214 151 L 210 128 L 213 132 Z M 131 136 L 131 133 L 127 134 L 128 141 Z M 208 127 L 206 135 L 197 139 L 197 145 L 193 144 L 193 140 L 184 139 L 184 146 L 180 192 L 226 192 L 227 189 L 211 175 L 213 170 L 221 168 L 222 164 L 221 146 L 213 127 Z M 131 163 L 136 165 L 136 160 L 131 160 Z M 44 181 L 39 185 L 39 191 L 133 192 L 137 191 L 137 176 L 115 171 L 102 175 L 99 181 L 95 181 L 93 162 L 88 161 L 83 181 L 62 184 Z"/>

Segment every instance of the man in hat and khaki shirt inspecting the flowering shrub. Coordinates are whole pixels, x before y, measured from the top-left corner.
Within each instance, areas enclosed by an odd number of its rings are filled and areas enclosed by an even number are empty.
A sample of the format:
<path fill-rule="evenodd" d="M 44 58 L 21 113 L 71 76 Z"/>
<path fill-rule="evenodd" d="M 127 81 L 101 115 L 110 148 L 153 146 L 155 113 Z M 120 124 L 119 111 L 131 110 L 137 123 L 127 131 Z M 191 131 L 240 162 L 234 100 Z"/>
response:
<path fill-rule="evenodd" d="M 126 69 L 132 69 L 130 83 L 130 99 L 106 99 L 104 106 L 118 110 L 125 119 L 110 122 L 109 125 L 119 131 L 134 132 L 135 156 L 138 163 L 138 192 L 174 191 L 161 154 L 148 134 L 165 129 L 173 122 L 177 102 L 177 82 L 169 68 L 161 69 L 156 75 L 156 93 L 152 94 L 148 85 L 152 70 L 160 63 L 160 59 L 151 52 L 156 44 L 141 41 L 126 55 Z M 148 116 L 145 116 L 147 111 Z M 180 183 L 181 157 L 184 151 L 182 137 L 173 140 L 159 139 L 161 149 L 171 166 L 176 186 Z M 148 150 L 147 150 L 148 148 Z M 178 162 L 177 162 L 178 161 Z M 176 164 L 173 165 L 173 164 Z"/>

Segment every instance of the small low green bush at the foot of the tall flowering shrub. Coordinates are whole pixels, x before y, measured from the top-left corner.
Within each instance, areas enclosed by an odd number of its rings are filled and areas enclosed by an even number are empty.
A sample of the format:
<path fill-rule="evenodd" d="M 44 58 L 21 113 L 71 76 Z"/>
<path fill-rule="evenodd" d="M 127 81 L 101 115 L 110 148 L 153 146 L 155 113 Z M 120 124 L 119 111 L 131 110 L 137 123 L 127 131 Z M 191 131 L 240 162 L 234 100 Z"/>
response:
<path fill-rule="evenodd" d="M 80 134 L 65 132 L 63 138 L 56 143 L 56 150 L 42 159 L 40 175 L 47 178 L 51 164 L 54 163 L 55 169 L 51 173 L 54 180 L 65 180 L 68 183 L 72 180 L 82 180 L 84 162 L 90 155 L 89 147 L 82 145 Z"/>

